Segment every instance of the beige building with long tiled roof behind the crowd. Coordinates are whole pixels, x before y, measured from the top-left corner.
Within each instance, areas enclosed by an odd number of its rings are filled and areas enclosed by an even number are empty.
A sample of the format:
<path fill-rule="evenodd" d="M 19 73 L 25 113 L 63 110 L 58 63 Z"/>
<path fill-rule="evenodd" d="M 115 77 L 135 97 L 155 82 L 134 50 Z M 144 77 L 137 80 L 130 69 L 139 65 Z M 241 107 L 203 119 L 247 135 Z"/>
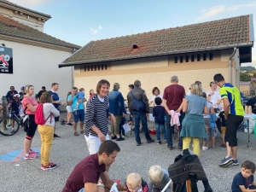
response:
<path fill-rule="evenodd" d="M 119 82 L 126 95 L 128 84 L 139 79 L 150 98 L 154 86 L 163 92 L 172 75 L 186 90 L 195 80 L 208 90 L 215 73 L 239 87 L 240 65 L 252 61 L 253 41 L 253 15 L 242 15 L 92 41 L 59 67 L 74 67 L 74 84 L 87 92 L 108 79 L 111 90 Z"/>

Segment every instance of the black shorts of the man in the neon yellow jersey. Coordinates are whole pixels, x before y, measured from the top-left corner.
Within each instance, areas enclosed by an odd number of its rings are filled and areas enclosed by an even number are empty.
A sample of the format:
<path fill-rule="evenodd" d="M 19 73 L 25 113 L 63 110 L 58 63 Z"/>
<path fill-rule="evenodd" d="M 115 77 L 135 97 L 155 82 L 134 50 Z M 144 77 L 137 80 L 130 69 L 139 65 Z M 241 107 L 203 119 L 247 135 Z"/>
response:
<path fill-rule="evenodd" d="M 237 146 L 236 131 L 243 121 L 243 116 L 229 114 L 226 124 L 225 142 L 228 142 L 230 147 Z"/>

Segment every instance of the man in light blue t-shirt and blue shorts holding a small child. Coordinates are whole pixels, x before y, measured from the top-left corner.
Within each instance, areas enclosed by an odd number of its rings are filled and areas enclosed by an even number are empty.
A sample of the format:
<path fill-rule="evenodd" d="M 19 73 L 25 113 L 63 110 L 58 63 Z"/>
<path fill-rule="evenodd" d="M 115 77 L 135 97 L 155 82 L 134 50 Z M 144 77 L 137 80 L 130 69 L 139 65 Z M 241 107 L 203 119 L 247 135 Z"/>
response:
<path fill-rule="evenodd" d="M 80 133 L 84 133 L 84 102 L 86 99 L 79 99 L 76 95 L 78 93 L 78 88 L 73 87 L 72 94 L 67 96 L 67 103 L 71 105 L 73 111 L 73 135 L 79 136 L 77 132 L 78 122 L 80 121 Z M 77 103 L 79 103 L 79 108 L 77 108 Z"/>

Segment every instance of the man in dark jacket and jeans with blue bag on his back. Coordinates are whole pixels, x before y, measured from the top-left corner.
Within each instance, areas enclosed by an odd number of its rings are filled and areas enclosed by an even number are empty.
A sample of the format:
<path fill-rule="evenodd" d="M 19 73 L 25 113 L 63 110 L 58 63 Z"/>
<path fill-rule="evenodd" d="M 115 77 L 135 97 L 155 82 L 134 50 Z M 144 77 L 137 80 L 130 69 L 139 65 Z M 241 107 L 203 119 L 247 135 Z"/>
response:
<path fill-rule="evenodd" d="M 131 115 L 134 116 L 135 119 L 135 137 L 137 141 L 137 146 L 141 145 L 141 138 L 139 133 L 139 124 L 140 119 L 143 124 L 144 135 L 147 139 L 147 143 L 154 143 L 154 139 L 149 136 L 148 133 L 148 124 L 147 118 L 149 117 L 149 105 L 148 98 L 146 96 L 145 90 L 141 88 L 141 82 L 136 80 L 134 82 L 134 89 L 131 90 L 127 95 L 128 100 L 128 108 L 131 112 Z"/>

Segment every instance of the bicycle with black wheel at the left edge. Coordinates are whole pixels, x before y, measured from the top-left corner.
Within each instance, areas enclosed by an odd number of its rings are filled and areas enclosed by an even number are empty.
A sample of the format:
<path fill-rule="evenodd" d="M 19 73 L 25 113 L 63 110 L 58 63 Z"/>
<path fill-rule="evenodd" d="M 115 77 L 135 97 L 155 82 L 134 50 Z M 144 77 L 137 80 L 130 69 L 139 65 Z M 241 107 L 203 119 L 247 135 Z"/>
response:
<path fill-rule="evenodd" d="M 15 120 L 14 130 L 12 130 L 13 119 Z M 15 111 L 12 111 L 12 109 L 9 108 L 9 117 L 0 119 L 0 134 L 3 136 L 13 136 L 16 132 L 19 131 L 20 127 L 24 127 L 23 119 L 17 116 Z"/>

